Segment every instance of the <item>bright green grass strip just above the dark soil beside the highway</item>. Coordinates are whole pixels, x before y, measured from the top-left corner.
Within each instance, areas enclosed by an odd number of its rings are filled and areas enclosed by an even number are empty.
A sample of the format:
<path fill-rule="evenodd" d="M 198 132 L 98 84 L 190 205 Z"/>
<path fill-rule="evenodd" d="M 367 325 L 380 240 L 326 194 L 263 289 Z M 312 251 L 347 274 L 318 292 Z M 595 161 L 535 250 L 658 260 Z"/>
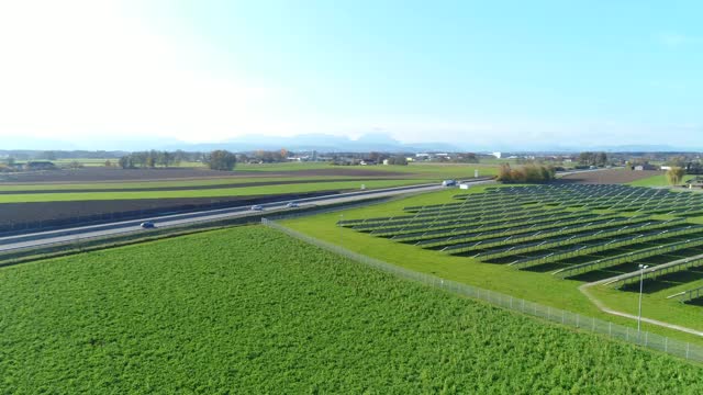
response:
<path fill-rule="evenodd" d="M 434 182 L 433 180 L 369 180 L 369 181 L 321 181 L 293 184 L 272 184 L 260 187 L 193 189 L 177 191 L 120 191 L 120 192 L 59 192 L 59 193 L 23 193 L 0 194 L 0 203 L 29 203 L 29 202 L 69 202 L 94 200 L 122 200 L 122 199 L 167 199 L 167 198 L 220 198 L 220 196 L 250 196 L 265 194 L 282 194 L 316 191 L 346 191 L 359 190 L 361 185 L 367 189 L 402 187 Z"/>

